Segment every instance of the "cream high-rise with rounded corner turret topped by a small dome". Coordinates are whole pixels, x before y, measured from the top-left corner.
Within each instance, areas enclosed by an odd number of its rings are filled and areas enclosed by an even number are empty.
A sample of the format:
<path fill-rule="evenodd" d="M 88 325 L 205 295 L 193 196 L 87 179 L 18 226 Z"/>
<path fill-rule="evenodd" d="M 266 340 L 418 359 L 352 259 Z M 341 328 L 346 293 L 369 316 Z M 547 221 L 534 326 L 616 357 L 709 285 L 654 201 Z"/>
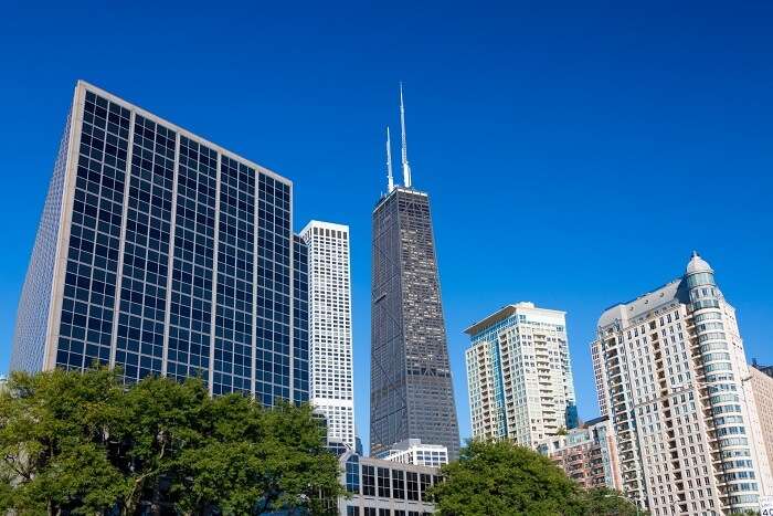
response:
<path fill-rule="evenodd" d="M 724 515 L 773 494 L 735 310 L 700 256 L 605 310 L 591 349 L 632 499 L 655 516 Z"/>

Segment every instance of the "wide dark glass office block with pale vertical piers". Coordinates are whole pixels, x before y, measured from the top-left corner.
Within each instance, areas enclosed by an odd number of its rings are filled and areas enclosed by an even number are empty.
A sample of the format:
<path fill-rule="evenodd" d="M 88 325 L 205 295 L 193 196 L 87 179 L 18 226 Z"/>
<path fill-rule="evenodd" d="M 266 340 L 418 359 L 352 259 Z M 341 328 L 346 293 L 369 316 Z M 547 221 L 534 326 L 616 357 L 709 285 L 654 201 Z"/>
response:
<path fill-rule="evenodd" d="M 308 398 L 293 183 L 85 82 L 22 288 L 11 369 L 201 375 Z M 296 331 L 299 329 L 299 331 Z"/>

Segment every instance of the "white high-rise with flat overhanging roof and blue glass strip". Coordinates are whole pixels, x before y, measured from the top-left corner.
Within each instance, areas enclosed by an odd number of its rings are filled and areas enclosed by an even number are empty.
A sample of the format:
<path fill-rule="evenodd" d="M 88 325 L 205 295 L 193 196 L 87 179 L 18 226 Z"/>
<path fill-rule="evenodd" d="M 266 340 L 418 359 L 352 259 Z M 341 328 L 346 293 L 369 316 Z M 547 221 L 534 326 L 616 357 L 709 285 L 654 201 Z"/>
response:
<path fill-rule="evenodd" d="M 573 425 L 565 313 L 508 305 L 465 330 L 473 436 L 536 446 Z"/>

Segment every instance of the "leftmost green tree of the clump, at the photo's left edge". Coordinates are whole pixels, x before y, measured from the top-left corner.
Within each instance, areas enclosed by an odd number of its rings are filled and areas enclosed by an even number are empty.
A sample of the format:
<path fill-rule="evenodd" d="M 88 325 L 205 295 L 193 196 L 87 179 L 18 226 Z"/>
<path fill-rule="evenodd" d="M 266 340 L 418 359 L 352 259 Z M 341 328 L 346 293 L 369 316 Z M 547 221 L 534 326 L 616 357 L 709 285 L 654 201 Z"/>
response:
<path fill-rule="evenodd" d="M 14 372 L 0 393 L 0 510 L 95 514 L 125 496 L 105 447 L 121 394 L 107 370 Z"/>

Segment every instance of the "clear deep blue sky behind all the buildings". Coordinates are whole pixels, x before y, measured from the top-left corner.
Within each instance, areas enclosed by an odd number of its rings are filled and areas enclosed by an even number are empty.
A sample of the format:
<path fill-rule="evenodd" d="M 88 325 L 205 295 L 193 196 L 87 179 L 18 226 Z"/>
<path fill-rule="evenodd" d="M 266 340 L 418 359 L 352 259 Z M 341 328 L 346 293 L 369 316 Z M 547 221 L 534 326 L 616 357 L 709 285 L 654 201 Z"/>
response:
<path fill-rule="evenodd" d="M 599 315 L 692 249 L 748 356 L 773 361 L 773 3 L 118 3 L 3 4 L 0 370 L 77 78 L 293 179 L 296 229 L 351 227 L 366 443 L 370 213 L 401 80 L 463 438 L 467 325 L 518 301 L 566 310 L 592 418 Z"/>

